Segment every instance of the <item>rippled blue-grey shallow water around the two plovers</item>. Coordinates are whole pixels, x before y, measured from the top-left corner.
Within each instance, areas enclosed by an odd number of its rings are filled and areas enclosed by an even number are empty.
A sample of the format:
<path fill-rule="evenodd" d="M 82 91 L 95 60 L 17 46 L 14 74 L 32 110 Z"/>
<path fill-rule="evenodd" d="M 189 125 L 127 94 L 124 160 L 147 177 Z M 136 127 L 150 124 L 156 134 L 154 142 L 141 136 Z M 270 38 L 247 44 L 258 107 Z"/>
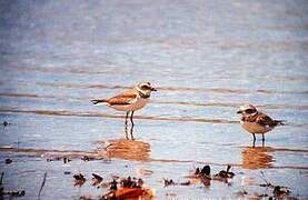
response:
<path fill-rule="evenodd" d="M 96 172 L 141 177 L 158 199 L 235 198 L 268 192 L 258 187 L 264 172 L 308 197 L 307 1 L 2 1 L 0 9 L 6 189 L 32 199 L 47 171 L 41 198 L 98 197 L 107 189 L 73 187 L 72 178 Z M 89 100 L 141 80 L 159 91 L 136 112 L 131 140 L 123 113 Z M 238 123 L 246 102 L 287 121 L 264 148 L 260 138 L 251 148 Z M 100 160 L 47 162 L 59 154 Z M 207 163 L 213 172 L 231 164 L 231 184 L 163 187 L 163 178 L 186 181 Z"/>

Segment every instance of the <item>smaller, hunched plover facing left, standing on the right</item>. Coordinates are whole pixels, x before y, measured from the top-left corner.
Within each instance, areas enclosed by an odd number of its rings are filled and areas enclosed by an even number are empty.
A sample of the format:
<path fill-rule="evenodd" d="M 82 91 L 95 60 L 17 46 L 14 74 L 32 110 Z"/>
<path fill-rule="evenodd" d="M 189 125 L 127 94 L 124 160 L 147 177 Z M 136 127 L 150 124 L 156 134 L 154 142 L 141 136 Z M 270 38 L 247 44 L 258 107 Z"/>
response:
<path fill-rule="evenodd" d="M 265 133 L 272 130 L 276 126 L 284 124 L 280 120 L 274 120 L 265 113 L 259 112 L 252 104 L 245 104 L 239 108 L 237 113 L 241 114 L 240 124 L 254 136 L 254 146 L 256 142 L 255 134 L 262 134 L 262 143 L 265 142 Z"/>

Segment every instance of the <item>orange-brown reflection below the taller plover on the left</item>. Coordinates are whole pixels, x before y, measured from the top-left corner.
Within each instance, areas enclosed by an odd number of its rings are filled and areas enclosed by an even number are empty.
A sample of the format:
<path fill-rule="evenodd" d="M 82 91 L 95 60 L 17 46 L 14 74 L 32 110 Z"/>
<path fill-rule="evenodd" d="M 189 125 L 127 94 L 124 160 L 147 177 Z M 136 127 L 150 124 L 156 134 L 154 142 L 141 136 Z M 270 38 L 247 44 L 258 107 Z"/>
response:
<path fill-rule="evenodd" d="M 126 128 L 126 138 L 107 140 L 105 149 L 109 158 L 147 161 L 150 159 L 150 144 L 136 140 L 132 136 L 133 127 L 129 132 Z M 128 137 L 130 134 L 130 139 Z"/>

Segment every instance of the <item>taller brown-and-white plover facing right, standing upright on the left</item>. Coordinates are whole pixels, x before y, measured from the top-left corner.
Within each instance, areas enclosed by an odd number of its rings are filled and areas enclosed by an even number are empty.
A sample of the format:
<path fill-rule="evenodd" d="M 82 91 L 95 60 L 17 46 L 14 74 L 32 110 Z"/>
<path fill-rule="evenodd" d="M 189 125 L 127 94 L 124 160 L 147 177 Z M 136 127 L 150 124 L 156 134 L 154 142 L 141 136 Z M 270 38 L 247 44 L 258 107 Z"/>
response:
<path fill-rule="evenodd" d="M 92 99 L 93 104 L 103 104 L 119 111 L 126 111 L 126 126 L 129 112 L 131 112 L 130 121 L 133 126 L 132 116 L 136 110 L 143 108 L 150 98 L 151 91 L 157 91 L 151 87 L 150 82 L 140 82 L 133 89 L 127 90 L 118 96 L 109 99 Z"/>

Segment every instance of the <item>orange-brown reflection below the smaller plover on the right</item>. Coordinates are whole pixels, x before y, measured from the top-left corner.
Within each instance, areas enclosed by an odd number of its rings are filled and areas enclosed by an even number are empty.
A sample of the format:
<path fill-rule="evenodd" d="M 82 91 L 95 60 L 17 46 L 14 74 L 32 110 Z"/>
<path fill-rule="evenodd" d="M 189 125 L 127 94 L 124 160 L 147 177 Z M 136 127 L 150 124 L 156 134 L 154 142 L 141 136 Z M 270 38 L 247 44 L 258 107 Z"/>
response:
<path fill-rule="evenodd" d="M 261 169 L 269 168 L 274 162 L 270 147 L 245 147 L 241 150 L 241 164 L 244 169 Z"/>

